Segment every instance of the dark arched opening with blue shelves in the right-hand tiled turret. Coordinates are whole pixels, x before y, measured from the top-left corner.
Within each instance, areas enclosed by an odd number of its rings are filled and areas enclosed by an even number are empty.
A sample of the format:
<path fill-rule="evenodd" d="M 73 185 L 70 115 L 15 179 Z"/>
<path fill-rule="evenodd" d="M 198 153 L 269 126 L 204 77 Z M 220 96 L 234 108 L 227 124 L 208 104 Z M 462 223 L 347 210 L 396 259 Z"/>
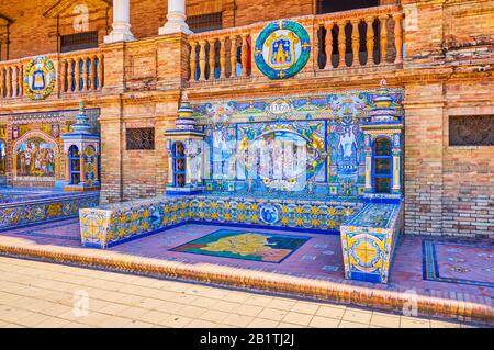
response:
<path fill-rule="evenodd" d="M 379 137 L 373 147 L 372 179 L 375 193 L 391 193 L 392 181 L 391 139 Z"/>

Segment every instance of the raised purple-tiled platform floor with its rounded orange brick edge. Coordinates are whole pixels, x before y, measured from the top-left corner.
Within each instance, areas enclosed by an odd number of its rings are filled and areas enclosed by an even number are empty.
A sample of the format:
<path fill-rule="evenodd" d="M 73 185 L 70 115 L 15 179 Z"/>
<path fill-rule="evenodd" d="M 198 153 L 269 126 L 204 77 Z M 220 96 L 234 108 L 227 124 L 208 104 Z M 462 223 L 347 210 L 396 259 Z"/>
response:
<path fill-rule="evenodd" d="M 2 232 L 0 255 L 247 290 L 267 290 L 386 312 L 400 313 L 409 302 L 414 302 L 420 316 L 493 323 L 494 275 L 492 268 L 489 271 L 486 268 L 493 266 L 494 245 L 489 240 L 475 240 L 474 247 L 469 248 L 469 256 L 463 258 L 456 257 L 463 247 L 445 246 L 445 252 L 451 252 L 438 255 L 438 273 L 449 278 L 461 274 L 463 281 L 453 279 L 444 282 L 425 279 L 423 238 L 405 236 L 396 248 L 391 280 L 386 285 L 345 280 L 341 247 L 336 235 L 304 234 L 311 239 L 281 263 L 172 251 L 172 248 L 218 228 L 223 226 L 189 224 L 101 250 L 81 247 L 78 221 L 68 219 Z M 294 235 L 291 232 L 273 233 Z M 434 272 L 434 266 L 428 270 Z M 475 280 L 484 281 L 487 285 L 472 284 Z"/>

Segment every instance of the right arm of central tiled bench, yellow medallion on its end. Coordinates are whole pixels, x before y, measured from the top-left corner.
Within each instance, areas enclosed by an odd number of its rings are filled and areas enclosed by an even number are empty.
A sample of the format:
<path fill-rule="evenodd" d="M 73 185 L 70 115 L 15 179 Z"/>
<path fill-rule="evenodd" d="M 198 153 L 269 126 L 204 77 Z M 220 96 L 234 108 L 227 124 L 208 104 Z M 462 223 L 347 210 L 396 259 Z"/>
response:
<path fill-rule="evenodd" d="M 403 204 L 369 203 L 340 227 L 347 279 L 388 283 Z"/>

